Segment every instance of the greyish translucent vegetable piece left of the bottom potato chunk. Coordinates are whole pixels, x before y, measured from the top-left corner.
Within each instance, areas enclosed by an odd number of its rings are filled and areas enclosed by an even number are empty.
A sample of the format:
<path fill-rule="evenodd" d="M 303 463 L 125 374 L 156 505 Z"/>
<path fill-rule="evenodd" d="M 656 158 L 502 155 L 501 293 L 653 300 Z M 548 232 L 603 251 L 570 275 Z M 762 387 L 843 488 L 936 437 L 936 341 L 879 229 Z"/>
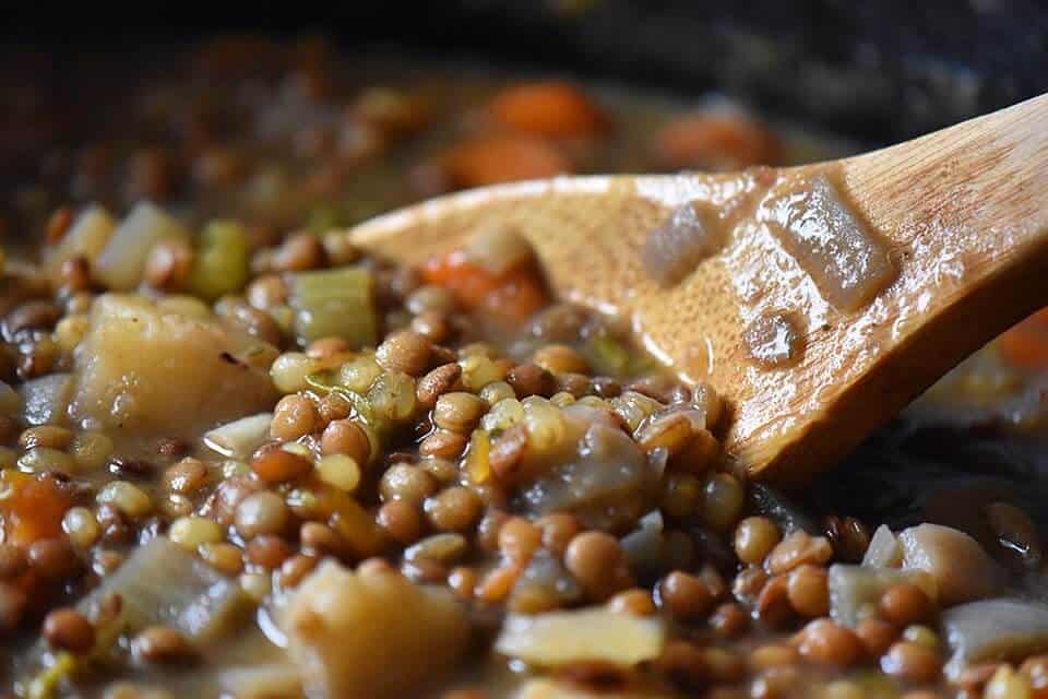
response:
<path fill-rule="evenodd" d="M 154 624 L 177 628 L 194 642 L 231 633 L 250 608 L 235 580 L 159 536 L 134 550 L 103 584 L 84 597 L 86 613 L 110 593 L 122 604 L 118 626 L 136 631 Z"/>

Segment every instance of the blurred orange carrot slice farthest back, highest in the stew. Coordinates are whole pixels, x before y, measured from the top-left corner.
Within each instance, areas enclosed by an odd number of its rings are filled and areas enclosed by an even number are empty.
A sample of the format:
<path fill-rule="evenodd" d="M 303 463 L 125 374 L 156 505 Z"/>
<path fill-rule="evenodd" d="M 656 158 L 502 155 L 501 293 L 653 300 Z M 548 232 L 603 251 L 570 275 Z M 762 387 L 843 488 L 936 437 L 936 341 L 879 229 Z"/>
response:
<path fill-rule="evenodd" d="M 607 123 L 585 93 L 557 80 L 508 87 L 496 95 L 490 109 L 504 127 L 553 139 L 592 137 Z"/>

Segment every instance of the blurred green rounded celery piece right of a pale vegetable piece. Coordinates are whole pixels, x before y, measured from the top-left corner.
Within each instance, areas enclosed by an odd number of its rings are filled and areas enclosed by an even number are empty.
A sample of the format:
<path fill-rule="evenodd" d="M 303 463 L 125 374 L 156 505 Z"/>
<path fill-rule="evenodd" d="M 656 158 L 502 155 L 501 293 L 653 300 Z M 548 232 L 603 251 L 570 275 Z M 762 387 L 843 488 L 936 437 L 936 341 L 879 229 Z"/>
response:
<path fill-rule="evenodd" d="M 248 283 L 250 264 L 243 227 L 235 221 L 212 221 L 200 236 L 189 287 L 211 300 L 239 292 Z"/>

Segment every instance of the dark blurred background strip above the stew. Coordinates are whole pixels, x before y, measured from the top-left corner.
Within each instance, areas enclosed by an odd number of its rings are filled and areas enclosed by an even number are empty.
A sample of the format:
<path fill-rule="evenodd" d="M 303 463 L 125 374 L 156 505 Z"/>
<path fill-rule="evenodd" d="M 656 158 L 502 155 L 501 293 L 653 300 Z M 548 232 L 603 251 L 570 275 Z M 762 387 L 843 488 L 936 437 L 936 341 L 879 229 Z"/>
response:
<path fill-rule="evenodd" d="M 1037 0 L 428 0 L 8 3 L 7 45 L 55 60 L 251 29 L 323 33 L 441 57 L 552 67 L 648 87 L 712 87 L 893 141 L 1048 91 Z"/>

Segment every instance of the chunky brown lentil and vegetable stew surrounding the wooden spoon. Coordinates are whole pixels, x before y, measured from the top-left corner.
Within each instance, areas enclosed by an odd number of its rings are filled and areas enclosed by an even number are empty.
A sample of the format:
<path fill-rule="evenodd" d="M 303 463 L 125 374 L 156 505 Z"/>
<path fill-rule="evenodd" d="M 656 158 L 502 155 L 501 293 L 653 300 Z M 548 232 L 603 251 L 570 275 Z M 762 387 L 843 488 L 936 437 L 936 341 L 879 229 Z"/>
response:
<path fill-rule="evenodd" d="M 886 514 L 806 512 L 734 473 L 716 387 L 550 298 L 514 232 L 421 269 L 345 235 L 454 188 L 774 165 L 810 140 L 719 103 L 346 70 L 322 43 L 170 64 L 129 75 L 133 129 L 29 115 L 27 143 L 0 135 L 7 690 L 1044 696 L 1043 544 L 1005 496 L 871 545 Z M 715 248 L 669 234 L 688 264 Z M 751 344 L 773 370 L 802 346 L 766 320 Z M 1012 423 L 1035 429 L 1041 325 L 915 422 L 1025 400 Z"/>

